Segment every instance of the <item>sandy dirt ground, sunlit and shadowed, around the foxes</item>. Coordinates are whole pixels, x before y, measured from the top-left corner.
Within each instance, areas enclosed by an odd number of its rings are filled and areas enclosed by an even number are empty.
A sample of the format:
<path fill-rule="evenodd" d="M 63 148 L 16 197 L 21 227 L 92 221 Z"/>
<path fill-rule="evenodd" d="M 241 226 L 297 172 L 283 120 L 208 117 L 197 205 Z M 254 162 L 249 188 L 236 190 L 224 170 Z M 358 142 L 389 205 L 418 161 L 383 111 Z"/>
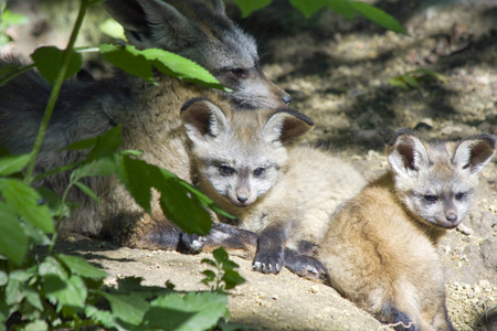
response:
<path fill-rule="evenodd" d="M 260 42 L 266 75 L 292 94 L 292 107 L 316 121 L 307 143 L 330 149 L 373 177 L 387 167 L 383 147 L 395 128 L 414 129 L 425 139 L 497 134 L 495 0 L 376 2 L 400 19 L 408 36 L 361 19 L 349 22 L 330 11 L 305 21 L 279 2 L 239 22 Z M 237 15 L 236 10 L 230 12 Z M 31 14 L 31 30 L 12 30 L 27 45 L 11 45 L 9 51 L 32 50 L 29 38 L 45 38 L 51 44 L 64 40 L 53 34 L 63 22 Z M 34 32 L 38 36 L 30 36 Z M 421 88 L 411 89 L 388 84 L 417 68 L 434 70 L 446 82 L 423 79 Z M 448 312 L 457 330 L 487 330 L 478 319 L 497 305 L 496 162 L 483 171 L 468 217 L 440 247 Z M 119 248 L 88 239 L 61 243 L 60 249 L 101 265 L 112 275 L 109 284 L 120 276 L 141 276 L 146 285 L 169 279 L 180 290 L 205 288 L 200 284 L 205 255 Z M 250 261 L 233 259 L 247 280 L 230 296 L 233 322 L 254 330 L 388 329 L 325 285 L 287 270 L 261 275 L 251 271 Z"/>

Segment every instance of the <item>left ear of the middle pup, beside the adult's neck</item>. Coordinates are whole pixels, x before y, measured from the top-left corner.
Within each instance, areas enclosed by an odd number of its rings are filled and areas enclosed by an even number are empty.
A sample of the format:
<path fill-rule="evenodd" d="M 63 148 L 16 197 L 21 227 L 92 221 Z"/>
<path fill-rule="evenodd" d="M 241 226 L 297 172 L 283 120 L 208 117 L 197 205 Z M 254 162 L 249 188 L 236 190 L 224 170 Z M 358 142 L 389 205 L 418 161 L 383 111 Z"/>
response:
<path fill-rule="evenodd" d="M 187 135 L 192 141 L 204 140 L 205 137 L 216 137 L 231 130 L 224 113 L 208 98 L 193 98 L 181 107 L 181 120 Z"/>

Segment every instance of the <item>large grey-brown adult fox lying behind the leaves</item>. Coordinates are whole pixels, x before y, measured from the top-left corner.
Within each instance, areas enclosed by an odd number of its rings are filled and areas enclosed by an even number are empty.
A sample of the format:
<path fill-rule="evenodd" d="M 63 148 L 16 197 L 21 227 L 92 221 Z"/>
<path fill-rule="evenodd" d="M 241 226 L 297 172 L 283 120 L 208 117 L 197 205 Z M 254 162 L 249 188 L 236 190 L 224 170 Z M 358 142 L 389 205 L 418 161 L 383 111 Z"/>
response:
<path fill-rule="evenodd" d="M 179 109 L 187 99 L 222 94 L 236 108 L 275 109 L 289 103 L 290 97 L 262 73 L 253 39 L 225 15 L 221 0 L 201 3 L 107 0 L 103 4 L 124 25 L 128 41 L 138 49 L 158 47 L 189 57 L 233 92 L 215 92 L 158 73 L 156 85 L 123 72 L 89 83 L 66 82 L 51 118 L 36 171 L 81 160 L 84 152 L 56 151 L 120 124 L 123 149 L 141 150 L 145 161 L 189 181 L 187 137 L 179 117 Z M 11 153 L 31 150 L 50 93 L 50 84 L 34 72 L 24 73 L 0 87 L 0 146 Z M 68 173 L 62 173 L 42 184 L 61 193 L 67 181 Z M 177 245 L 178 232 L 161 214 L 157 202 L 152 203 L 152 215 L 146 215 L 116 178 L 89 178 L 85 184 L 102 203 L 73 189 L 68 200 L 80 203 L 81 207 L 63 222 L 62 232 L 110 237 L 130 246 L 173 248 Z M 157 236 L 157 232 L 165 235 Z M 158 237 L 160 239 L 154 243 L 151 238 Z"/>

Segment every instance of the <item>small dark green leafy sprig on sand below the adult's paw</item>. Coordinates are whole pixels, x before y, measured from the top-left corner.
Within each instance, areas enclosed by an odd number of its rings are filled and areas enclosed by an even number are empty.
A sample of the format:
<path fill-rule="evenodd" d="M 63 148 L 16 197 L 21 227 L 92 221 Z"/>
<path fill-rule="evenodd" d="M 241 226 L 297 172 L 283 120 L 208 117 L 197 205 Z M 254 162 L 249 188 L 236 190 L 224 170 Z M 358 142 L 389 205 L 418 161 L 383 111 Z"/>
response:
<path fill-rule="evenodd" d="M 223 247 L 214 249 L 212 255 L 214 260 L 210 258 L 202 259 L 203 264 L 212 266 L 215 270 L 204 270 L 202 273 L 205 275 L 202 282 L 209 286 L 212 291 L 224 293 L 226 290 L 245 282 L 245 279 L 235 270 L 239 265 L 229 259 L 228 253 Z"/>

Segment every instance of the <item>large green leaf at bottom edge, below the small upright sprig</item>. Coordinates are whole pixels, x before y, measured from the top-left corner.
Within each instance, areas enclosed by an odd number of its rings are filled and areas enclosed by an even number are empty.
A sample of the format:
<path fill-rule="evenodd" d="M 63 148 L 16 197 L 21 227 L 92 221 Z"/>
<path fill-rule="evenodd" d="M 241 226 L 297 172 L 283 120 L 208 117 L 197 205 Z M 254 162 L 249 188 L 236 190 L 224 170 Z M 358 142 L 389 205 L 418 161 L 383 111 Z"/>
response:
<path fill-rule="evenodd" d="M 140 327 L 162 330 L 209 330 L 226 311 L 228 297 L 216 292 L 161 296 L 150 302 Z"/>

